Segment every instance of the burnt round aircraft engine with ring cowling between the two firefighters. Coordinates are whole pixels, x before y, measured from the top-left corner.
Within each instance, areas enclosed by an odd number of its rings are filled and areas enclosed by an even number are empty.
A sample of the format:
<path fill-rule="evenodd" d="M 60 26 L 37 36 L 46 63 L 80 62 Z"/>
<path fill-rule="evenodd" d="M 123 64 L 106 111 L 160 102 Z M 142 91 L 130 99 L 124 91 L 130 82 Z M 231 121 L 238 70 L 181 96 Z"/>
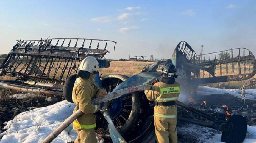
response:
<path fill-rule="evenodd" d="M 127 78 L 118 74 L 106 75 L 101 78 L 102 87 L 107 92 L 112 92 Z M 113 99 L 108 107 L 115 127 L 127 142 L 155 143 L 154 117 L 152 115 L 154 106 L 149 106 L 149 101 L 143 91 Z M 96 113 L 96 116 L 97 137 L 111 142 L 106 120 L 101 113 Z"/>

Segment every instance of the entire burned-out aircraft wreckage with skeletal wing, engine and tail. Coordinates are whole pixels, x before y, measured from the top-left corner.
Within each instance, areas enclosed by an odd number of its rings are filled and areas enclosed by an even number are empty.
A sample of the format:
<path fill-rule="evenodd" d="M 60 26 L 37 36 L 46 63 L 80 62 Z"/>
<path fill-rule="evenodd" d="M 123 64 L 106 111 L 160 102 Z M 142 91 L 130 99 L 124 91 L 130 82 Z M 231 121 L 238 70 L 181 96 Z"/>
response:
<path fill-rule="evenodd" d="M 100 68 L 109 67 L 110 61 L 102 59 L 109 52 L 109 45 L 115 49 L 116 42 L 77 38 L 18 40 L 0 66 L 1 76 L 16 79 L 0 81 L 0 87 L 47 96 L 64 95 L 65 99 L 72 102 L 71 93 L 79 63 L 86 56 L 94 56 Z M 247 80 L 256 73 L 255 57 L 246 48 L 196 55 L 192 47 L 182 41 L 175 48 L 171 60 L 177 68 L 181 94 L 185 96 L 196 96 L 199 84 Z M 120 74 L 100 77 L 97 74 L 95 81 L 107 92 L 151 84 L 160 77 L 159 70 L 163 64 L 164 61 L 160 61 L 147 65 L 132 77 Z M 241 115 L 233 115 L 226 122 L 182 102 L 177 101 L 177 105 L 203 117 L 203 120 L 177 117 L 178 120 L 223 131 L 223 142 L 242 142 L 245 138 L 247 123 Z M 144 92 L 138 91 L 112 100 L 109 110 L 115 127 L 127 142 L 155 141 L 154 102 L 149 102 Z M 107 123 L 101 113 L 97 114 L 95 129 L 99 138 L 110 139 Z"/>

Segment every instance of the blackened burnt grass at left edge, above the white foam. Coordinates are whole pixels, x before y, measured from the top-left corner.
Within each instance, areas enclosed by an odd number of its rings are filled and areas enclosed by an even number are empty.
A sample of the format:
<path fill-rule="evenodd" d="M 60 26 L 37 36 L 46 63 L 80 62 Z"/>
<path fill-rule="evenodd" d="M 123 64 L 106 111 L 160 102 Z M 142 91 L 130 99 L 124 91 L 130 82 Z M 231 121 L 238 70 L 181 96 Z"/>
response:
<path fill-rule="evenodd" d="M 13 99 L 8 97 L 0 99 L 0 133 L 1 131 L 4 131 L 3 128 L 5 123 L 12 120 L 19 113 L 32 110 L 34 108 L 53 105 L 64 100 L 63 97 L 56 97 L 54 100 L 49 100 L 47 98 L 48 97 L 45 96 L 37 96 L 23 99 Z"/>

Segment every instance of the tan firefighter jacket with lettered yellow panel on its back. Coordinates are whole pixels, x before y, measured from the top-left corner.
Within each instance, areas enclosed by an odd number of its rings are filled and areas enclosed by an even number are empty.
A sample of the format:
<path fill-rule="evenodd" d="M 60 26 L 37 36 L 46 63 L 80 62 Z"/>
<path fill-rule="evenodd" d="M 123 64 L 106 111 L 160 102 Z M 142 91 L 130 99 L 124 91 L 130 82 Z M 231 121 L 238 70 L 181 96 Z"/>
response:
<path fill-rule="evenodd" d="M 180 85 L 178 82 L 174 84 L 166 84 L 158 82 L 150 90 L 146 90 L 145 94 L 150 101 L 157 102 L 176 101 L 179 98 Z M 155 106 L 154 117 L 161 121 L 166 121 L 170 118 L 176 118 L 177 106 Z"/>

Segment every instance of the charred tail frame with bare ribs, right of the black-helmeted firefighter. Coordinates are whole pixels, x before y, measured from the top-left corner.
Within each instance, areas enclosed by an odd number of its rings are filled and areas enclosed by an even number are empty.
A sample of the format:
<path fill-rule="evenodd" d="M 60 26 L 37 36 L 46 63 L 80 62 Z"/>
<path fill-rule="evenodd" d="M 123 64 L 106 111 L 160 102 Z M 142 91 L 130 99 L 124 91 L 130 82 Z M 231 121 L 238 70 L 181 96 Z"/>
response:
<path fill-rule="evenodd" d="M 177 69 L 199 84 L 240 81 L 252 78 L 256 73 L 256 60 L 246 48 L 236 48 L 196 55 L 185 41 L 180 42 L 173 54 Z M 184 72 L 185 71 L 185 72 Z"/>

